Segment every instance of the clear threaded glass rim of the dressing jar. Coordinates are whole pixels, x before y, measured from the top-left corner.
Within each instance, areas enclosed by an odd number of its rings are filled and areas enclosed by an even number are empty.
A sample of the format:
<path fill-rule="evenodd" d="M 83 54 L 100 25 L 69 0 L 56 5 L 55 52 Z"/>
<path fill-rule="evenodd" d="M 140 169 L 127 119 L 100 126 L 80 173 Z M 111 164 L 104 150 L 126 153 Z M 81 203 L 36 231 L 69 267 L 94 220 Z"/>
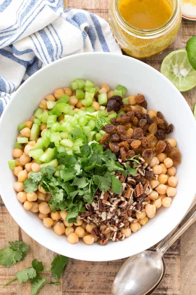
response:
<path fill-rule="evenodd" d="M 114 0 L 114 8 L 115 8 L 114 11 L 115 11 L 116 17 L 118 18 L 119 23 L 122 25 L 123 29 L 125 31 L 127 31 L 129 34 L 133 34 L 135 37 L 142 37 L 142 38 L 144 38 L 144 37 L 146 37 L 146 38 L 157 37 L 160 34 L 162 34 L 163 31 L 170 28 L 173 21 L 175 21 L 175 18 L 176 18 L 178 9 L 179 9 L 178 0 L 174 0 L 174 7 L 173 7 L 173 10 L 172 10 L 172 15 L 170 16 L 168 21 L 166 21 L 165 24 L 163 24 L 162 26 L 160 26 L 158 28 L 150 29 L 150 30 L 144 30 L 144 29 L 139 29 L 139 28 L 136 28 L 136 27 L 130 25 L 123 18 L 123 16 L 120 13 L 119 2 L 120 2 L 120 0 Z"/>

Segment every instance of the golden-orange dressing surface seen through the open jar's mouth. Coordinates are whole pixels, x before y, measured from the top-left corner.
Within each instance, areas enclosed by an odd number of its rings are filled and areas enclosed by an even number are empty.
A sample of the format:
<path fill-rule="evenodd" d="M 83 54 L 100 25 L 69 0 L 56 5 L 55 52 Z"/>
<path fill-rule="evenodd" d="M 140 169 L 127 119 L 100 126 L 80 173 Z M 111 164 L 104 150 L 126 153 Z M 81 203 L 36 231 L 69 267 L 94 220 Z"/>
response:
<path fill-rule="evenodd" d="M 143 30 L 164 25 L 172 15 L 166 0 L 121 0 L 119 9 L 130 25 Z"/>

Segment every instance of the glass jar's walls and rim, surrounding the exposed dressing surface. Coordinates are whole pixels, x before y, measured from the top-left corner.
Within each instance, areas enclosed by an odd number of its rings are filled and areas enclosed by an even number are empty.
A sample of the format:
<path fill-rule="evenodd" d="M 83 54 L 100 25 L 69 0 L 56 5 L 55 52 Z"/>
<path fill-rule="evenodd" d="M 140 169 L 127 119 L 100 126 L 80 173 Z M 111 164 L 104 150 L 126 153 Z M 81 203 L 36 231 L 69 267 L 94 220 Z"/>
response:
<path fill-rule="evenodd" d="M 131 26 L 119 10 L 120 0 L 110 0 L 109 24 L 120 47 L 133 57 L 149 57 L 165 50 L 175 39 L 182 20 L 178 0 L 167 0 L 172 15 L 161 27 L 142 30 Z"/>

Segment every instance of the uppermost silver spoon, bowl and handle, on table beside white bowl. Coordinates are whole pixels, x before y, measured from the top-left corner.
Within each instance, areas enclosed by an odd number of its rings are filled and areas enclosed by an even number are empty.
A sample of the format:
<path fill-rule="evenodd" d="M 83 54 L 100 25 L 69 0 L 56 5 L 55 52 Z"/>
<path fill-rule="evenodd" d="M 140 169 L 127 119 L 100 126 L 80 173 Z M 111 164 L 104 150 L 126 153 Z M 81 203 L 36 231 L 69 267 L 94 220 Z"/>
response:
<path fill-rule="evenodd" d="M 196 220 L 196 211 L 156 252 L 147 250 L 130 257 L 112 284 L 112 295 L 150 295 L 164 277 L 163 255 Z"/>

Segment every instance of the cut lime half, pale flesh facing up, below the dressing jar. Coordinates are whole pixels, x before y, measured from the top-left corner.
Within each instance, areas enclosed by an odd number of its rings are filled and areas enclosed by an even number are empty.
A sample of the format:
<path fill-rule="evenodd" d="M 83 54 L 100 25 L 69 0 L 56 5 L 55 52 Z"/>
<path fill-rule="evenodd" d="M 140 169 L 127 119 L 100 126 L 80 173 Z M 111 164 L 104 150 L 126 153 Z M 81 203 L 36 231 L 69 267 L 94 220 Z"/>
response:
<path fill-rule="evenodd" d="M 182 92 L 196 86 L 196 71 L 189 63 L 185 49 L 170 52 L 164 58 L 160 72 Z"/>

